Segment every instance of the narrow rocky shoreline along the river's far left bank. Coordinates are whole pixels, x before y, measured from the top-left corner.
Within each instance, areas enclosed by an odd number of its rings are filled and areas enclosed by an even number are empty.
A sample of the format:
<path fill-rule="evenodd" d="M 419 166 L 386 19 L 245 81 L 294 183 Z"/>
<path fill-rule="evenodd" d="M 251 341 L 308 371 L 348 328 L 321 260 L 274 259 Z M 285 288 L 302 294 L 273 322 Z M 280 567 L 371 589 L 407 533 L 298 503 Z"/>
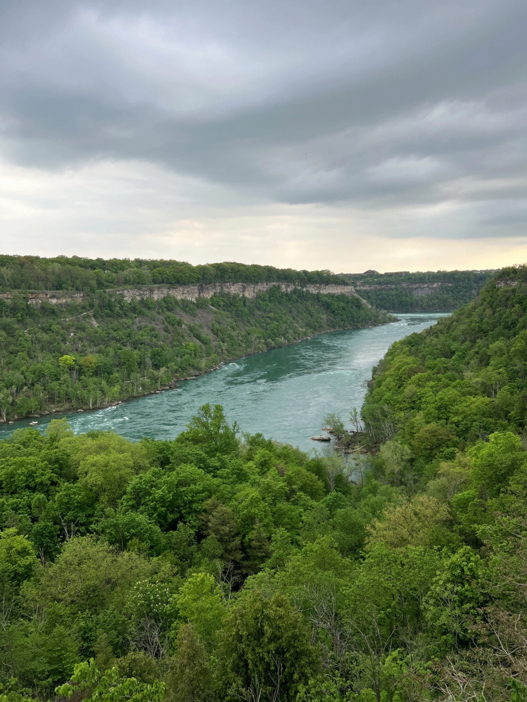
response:
<path fill-rule="evenodd" d="M 251 356 L 256 356 L 263 354 L 268 351 L 272 351 L 275 349 L 280 349 L 283 347 L 288 347 L 294 344 L 301 343 L 302 341 L 307 341 L 312 338 L 316 338 L 317 336 L 321 336 L 322 334 L 327 334 L 327 333 L 333 333 L 335 331 L 352 331 L 355 329 L 373 329 L 376 326 L 384 326 L 386 324 L 393 324 L 394 322 L 399 321 L 397 317 L 393 317 L 392 315 L 387 315 L 390 317 L 390 319 L 387 320 L 387 322 L 380 322 L 379 324 L 365 324 L 365 325 L 349 325 L 349 326 L 343 326 L 343 327 L 337 327 L 333 329 L 322 329 L 321 331 L 316 331 L 312 334 L 309 334 L 307 336 L 302 336 L 299 338 L 293 339 L 291 342 L 285 343 L 285 344 L 276 344 L 269 346 L 265 349 L 262 349 L 260 351 L 255 351 L 255 352 L 248 352 L 246 354 L 242 355 L 237 355 L 234 357 L 227 357 L 226 359 L 222 360 L 219 364 L 215 364 L 213 366 L 210 366 L 209 368 L 196 371 L 196 373 L 193 373 L 191 375 L 187 376 L 175 376 L 170 383 L 166 383 L 166 385 L 161 385 L 157 390 L 145 390 L 145 392 L 138 392 L 135 395 L 128 395 L 127 397 L 119 397 L 118 399 L 114 399 L 111 402 L 101 402 L 100 404 L 97 404 L 95 406 L 89 406 L 88 404 L 71 404 L 69 406 L 58 406 L 58 407 L 53 407 L 52 409 L 46 409 L 44 411 L 41 411 L 40 413 L 31 413 L 27 414 L 25 416 L 17 416 L 17 415 L 11 415 L 9 420 L 4 420 L 3 418 L 0 418 L 0 425 L 14 425 L 20 421 L 25 421 L 27 419 L 40 419 L 42 417 L 48 417 L 50 415 L 53 416 L 62 416 L 65 414 L 71 414 L 74 412 L 78 413 L 89 413 L 89 412 L 96 412 L 101 409 L 108 409 L 109 407 L 116 407 L 121 404 L 125 404 L 126 402 L 130 402 L 131 400 L 135 399 L 140 399 L 141 397 L 149 397 L 151 395 L 161 395 L 161 393 L 166 392 L 168 390 L 175 390 L 175 388 L 178 388 L 178 384 L 181 383 L 184 380 L 194 380 L 196 378 L 199 378 L 200 376 L 204 376 L 208 373 L 212 373 L 213 371 L 218 371 L 222 366 L 228 363 L 234 363 L 236 361 L 239 361 L 244 358 L 248 358 Z"/>

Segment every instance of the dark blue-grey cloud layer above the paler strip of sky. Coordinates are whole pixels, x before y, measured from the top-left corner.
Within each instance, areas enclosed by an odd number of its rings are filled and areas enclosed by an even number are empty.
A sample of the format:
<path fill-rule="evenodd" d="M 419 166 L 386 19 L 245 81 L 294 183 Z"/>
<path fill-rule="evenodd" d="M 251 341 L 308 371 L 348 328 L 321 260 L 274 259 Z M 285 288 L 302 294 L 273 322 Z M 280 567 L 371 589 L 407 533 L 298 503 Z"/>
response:
<path fill-rule="evenodd" d="M 140 159 L 287 203 L 493 201 L 493 235 L 525 224 L 524 0 L 1 7 L 15 163 Z"/>

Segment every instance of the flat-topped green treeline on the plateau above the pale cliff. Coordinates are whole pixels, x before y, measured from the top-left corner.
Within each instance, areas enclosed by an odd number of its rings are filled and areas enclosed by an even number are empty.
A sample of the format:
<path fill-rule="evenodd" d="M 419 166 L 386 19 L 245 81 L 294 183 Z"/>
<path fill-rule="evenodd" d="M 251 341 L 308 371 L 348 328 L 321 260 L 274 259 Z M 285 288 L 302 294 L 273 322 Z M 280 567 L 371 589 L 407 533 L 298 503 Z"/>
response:
<path fill-rule="evenodd" d="M 0 256 L 0 290 L 96 290 L 138 285 L 213 283 L 347 284 L 329 270 L 293 270 L 243 263 L 190 265 L 176 260 Z"/>

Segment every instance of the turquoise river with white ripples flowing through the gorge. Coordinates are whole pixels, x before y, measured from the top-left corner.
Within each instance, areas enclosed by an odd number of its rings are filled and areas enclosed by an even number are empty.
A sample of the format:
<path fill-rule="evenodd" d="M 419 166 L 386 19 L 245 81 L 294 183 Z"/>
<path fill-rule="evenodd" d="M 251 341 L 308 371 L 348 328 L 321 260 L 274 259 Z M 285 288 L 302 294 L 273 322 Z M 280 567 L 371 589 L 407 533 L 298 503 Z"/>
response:
<path fill-rule="evenodd" d="M 113 430 L 132 440 L 173 439 L 199 407 L 210 402 L 222 404 L 229 423 L 236 421 L 243 432 L 261 432 L 303 451 L 328 451 L 310 439 L 321 433 L 323 417 L 338 413 L 349 426 L 349 411 L 361 407 L 371 369 L 388 347 L 444 316 L 398 314 L 399 322 L 392 324 L 321 334 L 225 364 L 160 395 L 65 416 L 76 433 Z M 37 428 L 44 430 L 52 418 L 40 418 Z M 4 425 L 0 438 L 27 427 L 29 421 Z"/>

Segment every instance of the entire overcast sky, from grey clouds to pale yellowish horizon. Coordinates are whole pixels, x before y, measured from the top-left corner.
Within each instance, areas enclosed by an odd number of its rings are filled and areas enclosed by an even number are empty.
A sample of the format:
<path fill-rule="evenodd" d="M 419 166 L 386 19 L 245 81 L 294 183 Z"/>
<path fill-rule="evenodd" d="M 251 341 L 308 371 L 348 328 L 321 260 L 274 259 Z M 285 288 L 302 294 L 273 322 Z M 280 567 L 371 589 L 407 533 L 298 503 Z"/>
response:
<path fill-rule="evenodd" d="M 527 262 L 526 0 L 2 0 L 0 252 Z"/>

